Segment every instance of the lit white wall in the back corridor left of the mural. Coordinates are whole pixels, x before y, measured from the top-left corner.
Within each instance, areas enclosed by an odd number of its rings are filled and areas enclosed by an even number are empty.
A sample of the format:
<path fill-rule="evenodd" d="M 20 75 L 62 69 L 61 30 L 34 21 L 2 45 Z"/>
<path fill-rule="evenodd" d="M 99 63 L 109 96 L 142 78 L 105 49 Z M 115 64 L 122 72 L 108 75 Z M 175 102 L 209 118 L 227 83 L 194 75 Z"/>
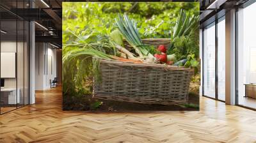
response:
<path fill-rule="evenodd" d="M 36 43 L 35 89 L 51 88 L 50 80 L 56 77 L 56 49 L 49 43 Z"/>

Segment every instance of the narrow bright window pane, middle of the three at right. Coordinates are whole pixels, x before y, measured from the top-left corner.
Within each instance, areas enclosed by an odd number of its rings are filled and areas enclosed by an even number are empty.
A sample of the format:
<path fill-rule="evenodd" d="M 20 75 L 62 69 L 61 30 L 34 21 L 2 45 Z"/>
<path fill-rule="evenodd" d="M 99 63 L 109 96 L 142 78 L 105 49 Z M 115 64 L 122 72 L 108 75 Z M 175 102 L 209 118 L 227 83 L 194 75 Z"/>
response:
<path fill-rule="evenodd" d="M 218 22 L 218 99 L 225 101 L 225 17 Z"/>

